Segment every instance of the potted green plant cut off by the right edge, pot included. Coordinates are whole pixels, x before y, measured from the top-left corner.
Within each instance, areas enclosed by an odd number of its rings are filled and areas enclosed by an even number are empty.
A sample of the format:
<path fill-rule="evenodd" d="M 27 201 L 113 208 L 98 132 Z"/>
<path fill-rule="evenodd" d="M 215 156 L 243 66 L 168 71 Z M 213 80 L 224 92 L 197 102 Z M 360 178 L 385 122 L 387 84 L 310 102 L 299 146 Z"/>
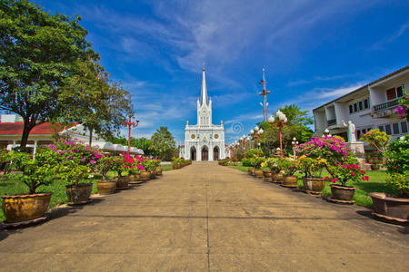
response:
<path fill-rule="evenodd" d="M 385 152 L 389 177 L 386 184 L 393 194 L 373 192 L 374 216 L 407 223 L 409 219 L 409 136 L 391 142 Z"/>

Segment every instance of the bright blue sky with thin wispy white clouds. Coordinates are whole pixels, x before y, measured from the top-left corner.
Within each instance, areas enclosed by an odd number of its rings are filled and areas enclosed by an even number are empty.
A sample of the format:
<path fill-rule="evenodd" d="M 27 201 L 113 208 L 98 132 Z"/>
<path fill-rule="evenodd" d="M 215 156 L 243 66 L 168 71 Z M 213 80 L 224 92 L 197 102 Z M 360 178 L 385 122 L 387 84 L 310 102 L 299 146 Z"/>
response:
<path fill-rule="evenodd" d="M 263 68 L 271 114 L 290 103 L 311 112 L 409 64 L 408 1 L 34 2 L 82 16 L 102 64 L 132 93 L 133 135 L 167 126 L 177 144 L 196 122 L 204 63 L 227 142 L 263 119 Z"/>

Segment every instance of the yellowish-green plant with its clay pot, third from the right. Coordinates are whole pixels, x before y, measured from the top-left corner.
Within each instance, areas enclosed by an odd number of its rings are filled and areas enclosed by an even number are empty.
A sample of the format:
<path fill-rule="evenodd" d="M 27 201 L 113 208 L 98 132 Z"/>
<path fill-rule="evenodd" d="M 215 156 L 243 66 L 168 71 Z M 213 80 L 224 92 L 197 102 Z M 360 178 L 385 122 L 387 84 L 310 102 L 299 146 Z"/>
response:
<path fill-rule="evenodd" d="M 321 177 L 326 165 L 326 160 L 318 157 L 316 159 L 302 155 L 297 158 L 298 170 L 304 173 L 304 189 L 309 194 L 321 194 L 325 187 L 325 180 Z"/>

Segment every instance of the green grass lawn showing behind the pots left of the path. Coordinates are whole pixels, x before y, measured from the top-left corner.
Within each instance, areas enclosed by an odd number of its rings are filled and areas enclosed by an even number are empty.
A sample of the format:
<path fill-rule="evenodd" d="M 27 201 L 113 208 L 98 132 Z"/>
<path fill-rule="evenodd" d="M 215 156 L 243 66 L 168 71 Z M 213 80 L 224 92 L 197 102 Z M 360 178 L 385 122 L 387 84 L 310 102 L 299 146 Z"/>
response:
<path fill-rule="evenodd" d="M 162 170 L 168 171 L 173 170 L 172 165 L 163 165 L 161 166 Z M 0 180 L 0 196 L 4 195 L 15 195 L 15 194 L 25 194 L 28 193 L 28 188 L 25 186 L 23 182 L 18 181 L 19 174 L 15 174 L 12 179 L 9 180 Z M 116 172 L 110 171 L 108 172 L 108 178 L 114 178 L 117 176 Z M 13 179 L 15 178 L 15 179 Z M 95 194 L 97 192 L 96 189 L 96 181 L 102 180 L 102 176 L 95 174 L 94 178 L 90 180 L 93 182 L 93 191 L 92 193 Z M 65 183 L 63 182 L 54 182 L 51 185 L 41 186 L 37 189 L 37 192 L 54 192 L 53 196 L 51 197 L 50 208 L 55 207 L 56 205 L 66 203 L 68 198 L 66 196 L 65 190 Z M 0 199 L 0 205 L 2 204 L 2 199 Z M 3 214 L 3 210 L 0 209 L 0 221 L 5 220 L 5 216 Z"/>

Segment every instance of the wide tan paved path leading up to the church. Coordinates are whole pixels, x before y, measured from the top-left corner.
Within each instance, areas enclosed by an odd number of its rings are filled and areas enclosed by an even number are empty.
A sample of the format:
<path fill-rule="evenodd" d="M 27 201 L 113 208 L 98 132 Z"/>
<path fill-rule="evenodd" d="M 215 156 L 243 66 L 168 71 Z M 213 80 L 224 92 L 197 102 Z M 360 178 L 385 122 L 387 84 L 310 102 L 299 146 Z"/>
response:
<path fill-rule="evenodd" d="M 0 231 L 5 271 L 408 271 L 409 231 L 197 163 Z"/>

